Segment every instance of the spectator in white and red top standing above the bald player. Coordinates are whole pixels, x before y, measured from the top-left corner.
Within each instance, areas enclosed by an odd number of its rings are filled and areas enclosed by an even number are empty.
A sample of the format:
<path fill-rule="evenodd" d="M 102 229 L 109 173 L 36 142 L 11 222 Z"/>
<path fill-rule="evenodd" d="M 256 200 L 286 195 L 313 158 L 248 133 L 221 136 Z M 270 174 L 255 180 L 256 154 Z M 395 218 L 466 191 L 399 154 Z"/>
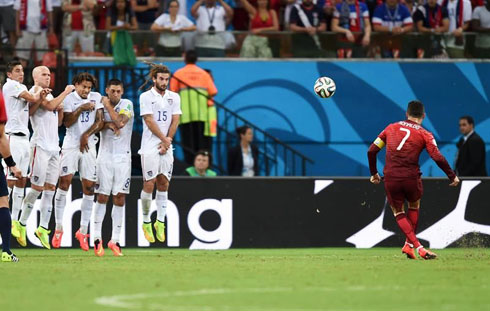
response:
<path fill-rule="evenodd" d="M 26 67 L 30 59 L 31 48 L 47 50 L 47 31 L 53 33 L 53 21 L 51 12 L 51 0 L 15 0 L 14 9 L 17 25 L 17 57 L 23 61 Z M 21 49 L 19 51 L 19 49 Z M 23 51 L 22 51 L 23 50 Z M 37 52 L 34 59 L 40 63 L 46 51 Z"/>

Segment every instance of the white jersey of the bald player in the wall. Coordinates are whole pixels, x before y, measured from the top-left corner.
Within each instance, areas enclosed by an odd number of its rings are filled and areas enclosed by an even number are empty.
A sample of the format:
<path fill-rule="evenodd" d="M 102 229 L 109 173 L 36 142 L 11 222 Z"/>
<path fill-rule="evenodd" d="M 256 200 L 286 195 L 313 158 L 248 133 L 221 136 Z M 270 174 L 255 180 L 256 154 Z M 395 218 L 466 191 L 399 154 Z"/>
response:
<path fill-rule="evenodd" d="M 34 86 L 29 90 L 33 93 Z M 53 100 L 51 94 L 46 96 L 47 100 Z M 58 111 L 49 111 L 39 107 L 31 116 L 31 125 L 34 134 L 31 138 L 31 146 L 39 146 L 46 151 L 59 151 L 58 136 Z"/>

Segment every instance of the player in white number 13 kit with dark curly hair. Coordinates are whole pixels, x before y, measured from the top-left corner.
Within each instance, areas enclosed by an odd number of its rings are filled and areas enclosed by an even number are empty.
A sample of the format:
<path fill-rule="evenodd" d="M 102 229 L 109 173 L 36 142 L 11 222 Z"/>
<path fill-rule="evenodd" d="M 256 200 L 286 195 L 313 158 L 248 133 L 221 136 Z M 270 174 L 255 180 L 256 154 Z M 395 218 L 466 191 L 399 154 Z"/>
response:
<path fill-rule="evenodd" d="M 71 185 L 73 175 L 79 172 L 82 180 L 83 199 L 81 204 L 80 229 L 75 237 L 80 247 L 88 251 L 88 225 L 94 204 L 94 187 L 97 180 L 95 133 L 104 126 L 104 106 L 102 96 L 92 92 L 97 80 L 87 72 L 77 74 L 73 78 L 75 92 L 63 101 L 63 123 L 66 136 L 61 149 L 60 180 L 55 196 L 56 230 L 51 244 L 59 248 L 63 236 L 63 212 L 66 206 L 66 194 Z"/>

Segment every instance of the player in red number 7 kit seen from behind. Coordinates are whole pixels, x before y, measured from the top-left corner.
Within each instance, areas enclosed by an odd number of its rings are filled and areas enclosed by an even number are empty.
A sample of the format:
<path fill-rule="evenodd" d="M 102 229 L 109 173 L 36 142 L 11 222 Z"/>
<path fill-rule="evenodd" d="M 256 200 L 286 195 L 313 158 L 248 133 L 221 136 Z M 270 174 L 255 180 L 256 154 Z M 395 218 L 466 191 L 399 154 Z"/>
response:
<path fill-rule="evenodd" d="M 451 181 L 450 186 L 457 186 L 459 179 L 447 160 L 439 152 L 431 132 L 421 124 L 425 118 L 424 105 L 420 101 L 408 103 L 407 120 L 388 125 L 368 150 L 370 181 L 379 184 L 381 177 L 376 167 L 376 155 L 386 145 L 386 163 L 384 168 L 384 184 L 386 196 L 390 203 L 396 222 L 406 236 L 402 253 L 415 259 L 414 247 L 420 257 L 435 259 L 433 252 L 426 250 L 415 236 L 419 218 L 420 198 L 423 188 L 420 176 L 419 156 L 425 148 L 430 157 L 446 173 Z M 404 203 L 408 201 L 408 213 L 405 215 Z"/>

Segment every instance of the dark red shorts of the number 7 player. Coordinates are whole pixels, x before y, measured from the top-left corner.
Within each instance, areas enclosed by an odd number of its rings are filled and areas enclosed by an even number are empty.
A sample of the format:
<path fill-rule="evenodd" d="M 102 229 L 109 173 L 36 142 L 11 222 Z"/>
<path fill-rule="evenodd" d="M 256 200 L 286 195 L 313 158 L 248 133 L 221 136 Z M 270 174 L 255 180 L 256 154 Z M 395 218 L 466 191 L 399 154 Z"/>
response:
<path fill-rule="evenodd" d="M 401 209 L 405 200 L 416 202 L 424 193 L 422 179 L 399 179 L 384 181 L 386 196 L 391 206 Z"/>

